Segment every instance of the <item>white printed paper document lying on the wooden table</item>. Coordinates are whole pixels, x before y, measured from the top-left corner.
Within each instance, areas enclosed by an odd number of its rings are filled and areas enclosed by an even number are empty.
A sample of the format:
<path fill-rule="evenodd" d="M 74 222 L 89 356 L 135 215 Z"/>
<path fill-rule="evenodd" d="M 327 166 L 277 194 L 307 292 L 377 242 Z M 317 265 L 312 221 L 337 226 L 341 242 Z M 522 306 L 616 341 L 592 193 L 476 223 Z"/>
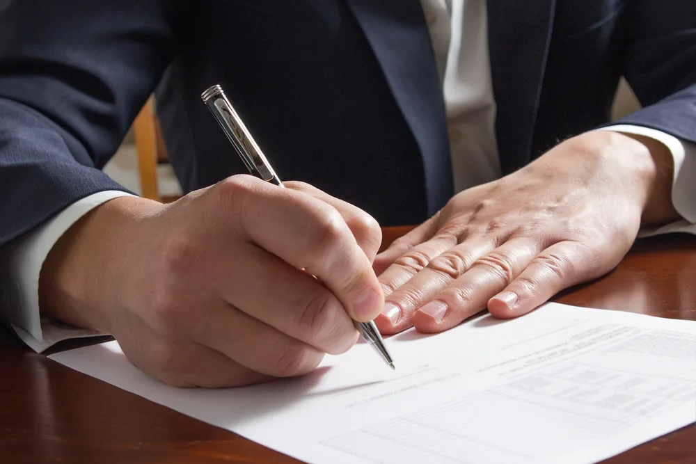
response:
<path fill-rule="evenodd" d="M 308 376 L 169 387 L 116 342 L 61 364 L 308 463 L 594 463 L 696 422 L 696 322 L 548 303 L 388 337 Z M 696 446 L 696 445 L 695 445 Z"/>

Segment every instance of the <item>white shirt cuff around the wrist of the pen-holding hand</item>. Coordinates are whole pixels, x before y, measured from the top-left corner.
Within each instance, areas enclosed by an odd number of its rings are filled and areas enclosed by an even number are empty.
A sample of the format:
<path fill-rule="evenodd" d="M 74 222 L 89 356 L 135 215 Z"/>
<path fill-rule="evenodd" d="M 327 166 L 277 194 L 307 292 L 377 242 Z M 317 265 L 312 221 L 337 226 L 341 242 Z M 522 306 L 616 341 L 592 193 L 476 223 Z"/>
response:
<path fill-rule="evenodd" d="M 62 340 L 104 335 L 41 317 L 39 274 L 56 241 L 93 208 L 113 198 L 133 196 L 121 191 L 102 191 L 74 202 L 36 230 L 0 249 L 0 312 L 17 335 L 38 353 Z"/>

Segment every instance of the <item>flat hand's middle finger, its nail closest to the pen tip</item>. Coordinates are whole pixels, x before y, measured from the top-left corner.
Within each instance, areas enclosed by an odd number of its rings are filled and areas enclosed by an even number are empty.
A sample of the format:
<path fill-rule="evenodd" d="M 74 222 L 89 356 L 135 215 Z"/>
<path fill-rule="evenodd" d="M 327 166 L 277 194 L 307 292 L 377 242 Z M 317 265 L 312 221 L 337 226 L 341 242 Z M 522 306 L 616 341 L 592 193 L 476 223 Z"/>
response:
<path fill-rule="evenodd" d="M 375 321 L 379 330 L 398 333 L 410 328 L 413 312 L 431 301 L 443 288 L 452 285 L 477 259 L 493 248 L 493 240 L 480 238 L 461 243 L 430 259 L 422 271 L 386 297 L 384 317 Z M 505 248 L 502 253 L 506 253 Z"/>

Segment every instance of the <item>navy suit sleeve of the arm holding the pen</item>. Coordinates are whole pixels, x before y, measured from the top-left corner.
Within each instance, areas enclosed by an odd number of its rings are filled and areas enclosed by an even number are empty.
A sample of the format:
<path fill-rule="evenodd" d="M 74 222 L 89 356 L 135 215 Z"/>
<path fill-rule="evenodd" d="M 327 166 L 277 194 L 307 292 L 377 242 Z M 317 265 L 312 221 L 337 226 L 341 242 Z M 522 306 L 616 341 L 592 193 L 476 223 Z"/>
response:
<path fill-rule="evenodd" d="M 171 61 L 173 1 L 10 0 L 0 11 L 0 247 L 90 194 Z M 0 7 L 1 8 L 1 7 Z"/>

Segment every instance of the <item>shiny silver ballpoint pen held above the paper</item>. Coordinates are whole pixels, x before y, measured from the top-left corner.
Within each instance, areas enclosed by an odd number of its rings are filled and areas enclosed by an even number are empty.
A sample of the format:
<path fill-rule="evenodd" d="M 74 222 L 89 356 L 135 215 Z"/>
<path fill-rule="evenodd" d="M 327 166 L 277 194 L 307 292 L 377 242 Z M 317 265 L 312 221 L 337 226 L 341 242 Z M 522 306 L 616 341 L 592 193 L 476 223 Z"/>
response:
<path fill-rule="evenodd" d="M 200 95 L 203 103 L 208 107 L 215 120 L 218 122 L 227 138 L 237 150 L 237 154 L 242 158 L 249 172 L 260 179 L 263 179 L 271 184 L 284 187 L 283 182 L 276 172 L 271 168 L 259 146 L 254 141 L 248 129 L 242 122 L 242 119 L 237 115 L 237 111 L 232 108 L 232 104 L 228 100 L 222 87 L 219 85 L 212 86 L 205 90 Z M 379 356 L 386 362 L 389 367 L 394 369 L 394 361 L 392 360 L 389 351 L 387 351 L 384 340 L 374 325 L 374 321 L 358 322 L 353 321 L 353 324 L 358 332 L 363 336 L 365 342 L 370 344 L 372 348 L 379 353 Z"/>

